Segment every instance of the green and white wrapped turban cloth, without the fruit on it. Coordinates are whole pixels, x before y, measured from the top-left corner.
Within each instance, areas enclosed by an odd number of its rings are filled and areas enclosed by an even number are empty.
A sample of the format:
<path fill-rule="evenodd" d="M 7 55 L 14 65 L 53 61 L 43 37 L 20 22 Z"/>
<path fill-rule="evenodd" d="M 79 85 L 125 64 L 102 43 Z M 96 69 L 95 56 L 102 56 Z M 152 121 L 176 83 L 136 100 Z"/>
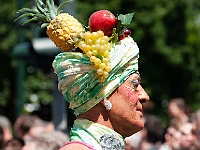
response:
<path fill-rule="evenodd" d="M 131 37 L 126 37 L 113 46 L 109 58 L 111 71 L 104 82 L 99 82 L 94 63 L 83 53 L 63 52 L 53 61 L 58 89 L 76 116 L 108 97 L 138 70 L 139 48 Z"/>

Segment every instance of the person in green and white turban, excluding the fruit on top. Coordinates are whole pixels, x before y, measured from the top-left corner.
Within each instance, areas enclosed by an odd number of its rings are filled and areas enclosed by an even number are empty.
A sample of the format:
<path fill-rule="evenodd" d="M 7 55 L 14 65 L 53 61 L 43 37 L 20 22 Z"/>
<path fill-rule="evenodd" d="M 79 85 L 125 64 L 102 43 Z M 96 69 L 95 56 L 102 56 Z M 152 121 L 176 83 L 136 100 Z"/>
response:
<path fill-rule="evenodd" d="M 124 138 L 143 129 L 142 103 L 149 96 L 140 84 L 139 48 L 127 36 L 114 44 L 109 58 L 111 71 L 100 82 L 94 63 L 84 53 L 56 56 L 58 88 L 77 116 L 71 142 L 60 150 L 123 150 Z"/>

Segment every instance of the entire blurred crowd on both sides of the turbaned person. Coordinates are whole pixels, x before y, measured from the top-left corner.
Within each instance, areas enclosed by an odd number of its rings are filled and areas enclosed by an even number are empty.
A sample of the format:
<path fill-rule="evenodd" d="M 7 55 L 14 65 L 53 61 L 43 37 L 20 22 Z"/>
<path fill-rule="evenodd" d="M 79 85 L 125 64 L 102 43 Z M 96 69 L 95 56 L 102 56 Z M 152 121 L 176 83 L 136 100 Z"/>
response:
<path fill-rule="evenodd" d="M 144 129 L 125 139 L 126 150 L 200 150 L 200 110 L 191 112 L 183 98 L 171 99 L 167 108 L 167 125 L 144 111 Z M 0 150 L 58 150 L 68 140 L 68 133 L 38 116 L 21 115 L 11 124 L 0 115 Z"/>

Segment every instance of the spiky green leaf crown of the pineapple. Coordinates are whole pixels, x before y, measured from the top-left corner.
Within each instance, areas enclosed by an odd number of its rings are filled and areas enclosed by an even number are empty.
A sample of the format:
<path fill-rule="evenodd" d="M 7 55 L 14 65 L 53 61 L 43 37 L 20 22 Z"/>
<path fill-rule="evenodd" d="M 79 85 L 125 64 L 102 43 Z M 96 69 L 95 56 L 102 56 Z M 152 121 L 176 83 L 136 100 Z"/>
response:
<path fill-rule="evenodd" d="M 53 0 L 46 0 L 46 4 L 42 0 L 35 0 L 37 9 L 22 8 L 18 10 L 17 13 L 21 13 L 21 15 L 15 21 L 23 17 L 30 17 L 22 25 L 35 21 L 37 25 L 41 24 L 41 27 L 46 27 L 51 20 L 62 12 L 62 7 L 71 1 L 67 0 L 56 7 Z"/>

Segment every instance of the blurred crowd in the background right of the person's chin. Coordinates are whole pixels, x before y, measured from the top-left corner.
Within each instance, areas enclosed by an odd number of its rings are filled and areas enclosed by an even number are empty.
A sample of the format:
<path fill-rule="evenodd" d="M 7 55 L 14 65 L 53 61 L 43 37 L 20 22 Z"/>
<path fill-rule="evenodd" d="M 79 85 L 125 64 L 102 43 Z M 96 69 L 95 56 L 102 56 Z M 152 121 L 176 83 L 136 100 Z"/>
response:
<path fill-rule="evenodd" d="M 168 103 L 170 121 L 145 113 L 144 129 L 126 138 L 126 150 L 200 150 L 200 110 L 192 112 L 183 98 Z"/>

